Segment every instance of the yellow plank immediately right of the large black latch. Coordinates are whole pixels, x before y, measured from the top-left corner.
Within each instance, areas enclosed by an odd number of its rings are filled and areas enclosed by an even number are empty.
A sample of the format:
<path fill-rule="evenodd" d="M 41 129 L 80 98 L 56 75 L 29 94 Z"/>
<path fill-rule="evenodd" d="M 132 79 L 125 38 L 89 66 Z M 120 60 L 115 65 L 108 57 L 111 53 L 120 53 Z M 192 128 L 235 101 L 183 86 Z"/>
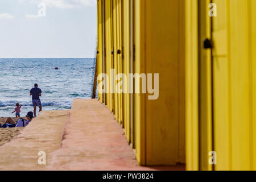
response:
<path fill-rule="evenodd" d="M 214 0 L 217 16 L 212 17 L 213 54 L 213 118 L 214 151 L 217 170 L 230 169 L 230 99 L 229 99 L 229 6 L 227 0 Z M 232 37 L 232 36 L 231 36 Z"/>

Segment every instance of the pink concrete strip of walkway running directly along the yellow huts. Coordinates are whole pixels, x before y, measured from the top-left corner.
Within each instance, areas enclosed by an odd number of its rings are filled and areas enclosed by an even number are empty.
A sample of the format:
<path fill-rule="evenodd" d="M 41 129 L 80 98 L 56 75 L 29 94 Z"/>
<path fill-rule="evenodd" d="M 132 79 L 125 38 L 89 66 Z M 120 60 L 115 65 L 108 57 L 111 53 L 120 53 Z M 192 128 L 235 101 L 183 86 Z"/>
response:
<path fill-rule="evenodd" d="M 140 167 L 114 115 L 97 100 L 73 101 L 59 150 L 49 154 L 51 170 L 184 170 L 184 166 Z"/>

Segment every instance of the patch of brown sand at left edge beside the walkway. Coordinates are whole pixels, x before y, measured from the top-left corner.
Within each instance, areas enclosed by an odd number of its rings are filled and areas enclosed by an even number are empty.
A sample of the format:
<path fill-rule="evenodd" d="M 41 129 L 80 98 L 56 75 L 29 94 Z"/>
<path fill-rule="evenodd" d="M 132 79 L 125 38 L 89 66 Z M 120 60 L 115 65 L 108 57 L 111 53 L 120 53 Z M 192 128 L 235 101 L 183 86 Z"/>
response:
<path fill-rule="evenodd" d="M 23 117 L 26 118 L 26 117 Z M 5 123 L 7 118 L 0 118 L 0 123 L 1 125 L 3 125 Z M 18 121 L 18 118 L 13 118 L 15 122 Z M 23 130 L 24 127 L 17 127 L 17 128 L 6 128 L 6 129 L 2 129 L 0 128 L 0 146 L 2 146 L 3 144 L 10 142 L 11 139 L 13 139 L 14 137 L 16 137 L 21 130 Z"/>

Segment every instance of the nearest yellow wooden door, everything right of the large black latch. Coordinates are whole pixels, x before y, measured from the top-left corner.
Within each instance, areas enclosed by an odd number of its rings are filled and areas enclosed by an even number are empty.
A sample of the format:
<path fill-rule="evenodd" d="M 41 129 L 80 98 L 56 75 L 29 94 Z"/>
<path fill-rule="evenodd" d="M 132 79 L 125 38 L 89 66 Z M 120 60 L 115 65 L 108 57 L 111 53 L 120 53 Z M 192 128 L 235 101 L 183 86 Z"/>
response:
<path fill-rule="evenodd" d="M 213 1 L 217 7 L 217 16 L 212 17 L 216 170 L 249 170 L 254 166 L 253 2 Z"/>

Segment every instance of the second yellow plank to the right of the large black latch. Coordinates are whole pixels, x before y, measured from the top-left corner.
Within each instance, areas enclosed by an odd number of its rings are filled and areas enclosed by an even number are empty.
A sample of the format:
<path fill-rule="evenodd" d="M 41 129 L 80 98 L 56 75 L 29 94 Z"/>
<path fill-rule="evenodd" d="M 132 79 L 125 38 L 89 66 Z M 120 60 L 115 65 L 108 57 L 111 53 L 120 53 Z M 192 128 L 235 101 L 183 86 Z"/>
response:
<path fill-rule="evenodd" d="M 230 8 L 230 76 L 232 169 L 250 169 L 249 47 L 247 2 L 232 0 Z M 223 88 L 222 88 L 223 89 Z"/>

